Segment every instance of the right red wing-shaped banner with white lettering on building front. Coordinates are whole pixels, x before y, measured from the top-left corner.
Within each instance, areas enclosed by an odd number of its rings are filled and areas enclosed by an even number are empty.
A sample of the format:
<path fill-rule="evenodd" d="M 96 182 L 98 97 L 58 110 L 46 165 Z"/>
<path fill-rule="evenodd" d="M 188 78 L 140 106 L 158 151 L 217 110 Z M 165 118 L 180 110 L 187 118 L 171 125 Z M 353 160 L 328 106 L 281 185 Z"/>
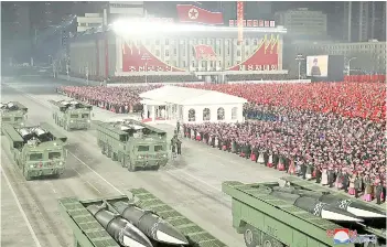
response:
<path fill-rule="evenodd" d="M 245 62 L 227 71 L 277 71 L 278 69 L 278 36 L 261 40 L 257 51 Z"/>

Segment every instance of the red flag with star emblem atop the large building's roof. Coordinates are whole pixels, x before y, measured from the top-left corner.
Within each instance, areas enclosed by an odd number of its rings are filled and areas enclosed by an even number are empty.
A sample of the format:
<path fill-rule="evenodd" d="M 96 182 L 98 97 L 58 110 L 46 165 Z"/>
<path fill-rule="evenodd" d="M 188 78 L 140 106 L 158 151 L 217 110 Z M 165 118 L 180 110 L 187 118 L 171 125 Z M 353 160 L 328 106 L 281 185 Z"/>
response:
<path fill-rule="evenodd" d="M 178 4 L 176 9 L 181 22 L 223 24 L 223 13 L 221 12 L 211 12 L 192 4 Z"/>

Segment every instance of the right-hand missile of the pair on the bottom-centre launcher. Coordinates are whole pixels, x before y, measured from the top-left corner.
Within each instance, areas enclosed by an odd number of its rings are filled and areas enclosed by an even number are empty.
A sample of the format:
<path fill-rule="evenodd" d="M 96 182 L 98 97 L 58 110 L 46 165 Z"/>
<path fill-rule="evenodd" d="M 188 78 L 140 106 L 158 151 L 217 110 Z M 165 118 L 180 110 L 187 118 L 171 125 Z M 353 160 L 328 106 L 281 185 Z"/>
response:
<path fill-rule="evenodd" d="M 186 237 L 159 215 L 143 211 L 136 205 L 123 202 L 114 203 L 112 206 L 127 221 L 132 223 L 149 238 L 169 245 L 189 245 Z"/>

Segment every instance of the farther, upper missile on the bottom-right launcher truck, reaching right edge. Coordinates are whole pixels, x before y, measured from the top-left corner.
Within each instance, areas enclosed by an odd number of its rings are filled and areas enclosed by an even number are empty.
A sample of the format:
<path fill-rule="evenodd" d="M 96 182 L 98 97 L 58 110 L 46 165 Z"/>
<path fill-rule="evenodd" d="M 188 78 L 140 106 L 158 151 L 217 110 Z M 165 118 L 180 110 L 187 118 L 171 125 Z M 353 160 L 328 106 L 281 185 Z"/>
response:
<path fill-rule="evenodd" d="M 297 190 L 294 187 L 273 187 L 275 191 L 284 192 L 290 194 L 303 195 L 308 197 L 313 197 L 322 203 L 330 204 L 334 207 L 341 208 L 348 213 L 356 215 L 357 217 L 368 219 L 368 218 L 386 218 L 386 213 L 374 208 L 372 206 L 364 205 L 362 203 L 354 202 L 347 198 L 341 198 L 337 195 L 324 194 L 321 192 L 312 192 L 307 190 Z"/>

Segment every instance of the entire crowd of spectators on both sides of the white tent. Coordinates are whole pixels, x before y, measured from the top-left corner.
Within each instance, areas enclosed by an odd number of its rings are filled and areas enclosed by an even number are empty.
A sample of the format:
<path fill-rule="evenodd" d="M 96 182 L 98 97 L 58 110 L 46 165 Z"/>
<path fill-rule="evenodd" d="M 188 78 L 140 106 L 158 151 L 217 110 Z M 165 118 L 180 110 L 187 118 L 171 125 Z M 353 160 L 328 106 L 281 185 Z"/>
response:
<path fill-rule="evenodd" d="M 140 109 L 139 94 L 160 87 L 60 90 L 115 112 Z M 386 194 L 386 90 L 379 83 L 190 84 L 248 99 L 245 124 L 185 125 L 185 136 L 364 198 Z M 380 193 L 384 195 L 380 195 Z"/>

